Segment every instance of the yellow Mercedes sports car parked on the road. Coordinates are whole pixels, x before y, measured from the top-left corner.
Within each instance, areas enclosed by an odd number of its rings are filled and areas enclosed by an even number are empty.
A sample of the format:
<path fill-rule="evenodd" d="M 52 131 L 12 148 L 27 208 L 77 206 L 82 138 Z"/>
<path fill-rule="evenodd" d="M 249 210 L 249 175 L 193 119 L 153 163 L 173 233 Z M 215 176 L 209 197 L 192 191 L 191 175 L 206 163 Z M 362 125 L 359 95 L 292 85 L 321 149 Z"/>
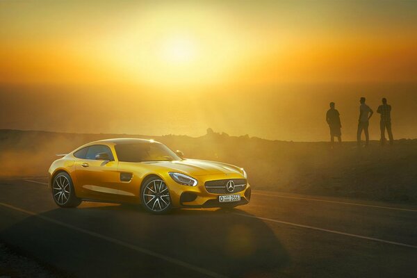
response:
<path fill-rule="evenodd" d="M 154 140 L 119 138 L 90 142 L 49 167 L 49 188 L 58 206 L 82 200 L 136 203 L 151 213 L 171 208 L 248 204 L 245 170 L 183 158 Z"/>

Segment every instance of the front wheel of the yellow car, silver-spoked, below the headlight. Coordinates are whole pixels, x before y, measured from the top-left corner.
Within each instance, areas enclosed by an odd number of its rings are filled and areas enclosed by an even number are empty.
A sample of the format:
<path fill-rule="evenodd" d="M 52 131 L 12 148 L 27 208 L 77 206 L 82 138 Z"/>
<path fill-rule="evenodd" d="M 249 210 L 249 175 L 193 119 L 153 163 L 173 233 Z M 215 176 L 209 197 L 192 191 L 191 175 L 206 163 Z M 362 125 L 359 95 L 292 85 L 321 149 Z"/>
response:
<path fill-rule="evenodd" d="M 154 214 L 164 214 L 172 209 L 170 190 L 165 181 L 151 177 L 142 185 L 142 206 Z"/>

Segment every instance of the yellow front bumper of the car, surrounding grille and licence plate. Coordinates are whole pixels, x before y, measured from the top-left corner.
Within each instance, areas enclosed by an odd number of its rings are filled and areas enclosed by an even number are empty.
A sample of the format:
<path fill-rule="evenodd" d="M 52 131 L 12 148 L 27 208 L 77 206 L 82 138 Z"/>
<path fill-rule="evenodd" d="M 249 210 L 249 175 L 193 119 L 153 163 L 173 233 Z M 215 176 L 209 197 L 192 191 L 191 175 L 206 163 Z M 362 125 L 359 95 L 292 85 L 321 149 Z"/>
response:
<path fill-rule="evenodd" d="M 242 179 L 240 174 L 215 174 L 206 176 L 194 177 L 197 179 L 197 186 L 183 186 L 170 177 L 165 179 L 168 188 L 170 188 L 170 197 L 172 205 L 176 208 L 218 208 L 227 206 L 240 206 L 248 204 L 251 197 L 251 187 L 249 183 L 246 183 L 245 189 L 238 193 L 228 194 L 215 194 L 208 193 L 204 183 L 206 181 L 216 181 L 220 179 Z M 220 203 L 220 195 L 240 195 L 240 201 L 238 202 L 226 202 Z"/>

